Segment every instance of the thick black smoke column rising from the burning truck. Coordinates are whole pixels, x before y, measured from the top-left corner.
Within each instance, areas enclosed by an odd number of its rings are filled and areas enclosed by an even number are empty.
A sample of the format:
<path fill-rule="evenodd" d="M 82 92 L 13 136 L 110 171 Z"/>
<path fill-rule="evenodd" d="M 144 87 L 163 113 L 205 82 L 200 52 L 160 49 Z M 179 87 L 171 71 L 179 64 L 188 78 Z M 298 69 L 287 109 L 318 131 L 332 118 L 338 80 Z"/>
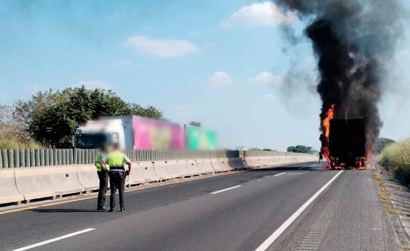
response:
<path fill-rule="evenodd" d="M 382 96 L 387 59 L 402 34 L 398 0 L 276 0 L 299 18 L 313 20 L 305 35 L 318 61 L 317 92 L 321 121 L 332 104 L 335 118 L 364 118 L 366 152 L 373 152 L 382 121 L 377 104 Z M 321 124 L 320 128 L 324 128 Z M 325 138 L 321 137 L 322 144 Z"/>

